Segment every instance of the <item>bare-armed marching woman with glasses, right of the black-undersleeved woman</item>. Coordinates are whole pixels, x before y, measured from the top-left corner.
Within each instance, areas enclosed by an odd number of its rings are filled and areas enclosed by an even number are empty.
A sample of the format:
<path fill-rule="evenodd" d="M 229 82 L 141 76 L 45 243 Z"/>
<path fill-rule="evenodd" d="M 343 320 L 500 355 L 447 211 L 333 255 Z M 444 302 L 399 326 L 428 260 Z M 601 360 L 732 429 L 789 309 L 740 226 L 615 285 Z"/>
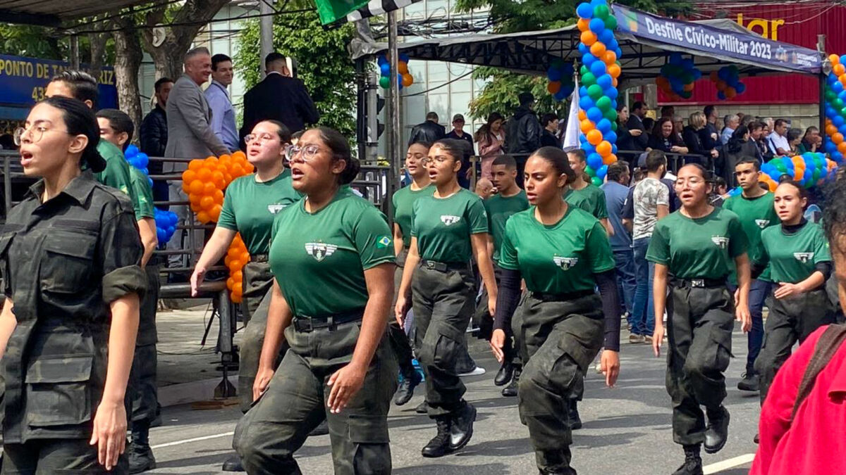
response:
<path fill-rule="evenodd" d="M 675 188 L 682 206 L 656 223 L 646 251 L 646 259 L 655 263 L 652 349 L 660 355 L 660 315 L 666 309 L 673 441 L 684 446 L 684 464 L 673 475 L 695 475 L 702 472 L 700 445 L 713 454 L 728 440 L 723 372 L 731 358 L 734 320 L 744 331 L 752 326 L 749 239 L 737 215 L 709 204 L 713 185 L 704 167 L 681 167 Z M 732 263 L 737 268 L 736 300 L 726 281 Z"/>

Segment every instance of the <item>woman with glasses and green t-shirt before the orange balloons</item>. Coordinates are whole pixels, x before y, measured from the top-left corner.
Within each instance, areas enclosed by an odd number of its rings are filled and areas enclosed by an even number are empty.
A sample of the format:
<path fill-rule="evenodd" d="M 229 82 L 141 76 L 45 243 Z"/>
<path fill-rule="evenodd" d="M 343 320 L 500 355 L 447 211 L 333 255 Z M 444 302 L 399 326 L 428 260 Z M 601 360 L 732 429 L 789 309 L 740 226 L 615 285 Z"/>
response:
<path fill-rule="evenodd" d="M 240 232 L 250 252 L 250 262 L 241 270 L 244 289 L 241 309 L 247 328 L 240 345 L 238 375 L 240 406 L 246 412 L 253 402 L 253 382 L 267 319 L 267 306 L 263 305 L 260 311 L 259 304 L 273 283 L 267 262 L 273 219 L 300 195 L 292 186 L 291 172 L 283 167 L 291 140 L 291 133 L 283 123 L 272 120 L 257 123 L 244 140 L 247 160 L 255 167 L 255 173 L 233 180 L 226 188 L 217 227 L 191 276 L 191 294 L 199 293 L 209 267 L 226 255 L 235 234 Z"/>

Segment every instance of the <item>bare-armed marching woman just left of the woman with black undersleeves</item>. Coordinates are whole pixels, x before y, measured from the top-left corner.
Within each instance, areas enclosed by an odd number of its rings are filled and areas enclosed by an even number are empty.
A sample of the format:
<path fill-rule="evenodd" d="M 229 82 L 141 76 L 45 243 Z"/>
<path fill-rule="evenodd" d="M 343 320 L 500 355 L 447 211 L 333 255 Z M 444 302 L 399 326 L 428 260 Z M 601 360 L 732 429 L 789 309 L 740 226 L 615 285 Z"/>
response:
<path fill-rule="evenodd" d="M 464 401 L 467 388 L 456 370 L 475 308 L 473 257 L 491 312 L 497 304 L 485 206 L 458 182 L 463 156 L 460 140 L 438 140 L 429 149 L 427 166 L 436 190 L 415 201 L 411 246 L 395 308 L 403 325 L 413 299 L 415 348 L 426 373 L 428 414 L 437 423 L 437 435 L 422 450 L 427 457 L 459 450 L 473 434 L 475 407 Z"/>

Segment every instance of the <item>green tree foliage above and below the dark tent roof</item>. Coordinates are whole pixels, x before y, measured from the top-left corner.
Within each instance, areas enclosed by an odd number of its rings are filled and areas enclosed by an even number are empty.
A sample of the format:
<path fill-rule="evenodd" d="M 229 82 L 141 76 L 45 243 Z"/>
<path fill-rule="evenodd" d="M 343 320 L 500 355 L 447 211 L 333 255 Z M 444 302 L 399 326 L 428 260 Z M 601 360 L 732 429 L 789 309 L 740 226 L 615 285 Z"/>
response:
<path fill-rule="evenodd" d="M 515 33 L 574 25 L 579 3 L 580 0 L 457 0 L 455 5 L 461 12 L 487 9 L 492 25 L 495 25 L 495 33 Z M 675 0 L 624 0 L 619 3 L 667 16 L 692 11 L 692 3 Z M 559 116 L 566 110 L 566 102 L 554 101 L 547 92 L 545 76 L 530 76 L 501 68 L 476 68 L 473 77 L 488 82 L 470 102 L 472 117 L 484 119 L 491 112 L 500 112 L 508 117 L 518 106 L 517 95 L 526 90 L 537 98 L 536 110 L 558 112 Z"/>

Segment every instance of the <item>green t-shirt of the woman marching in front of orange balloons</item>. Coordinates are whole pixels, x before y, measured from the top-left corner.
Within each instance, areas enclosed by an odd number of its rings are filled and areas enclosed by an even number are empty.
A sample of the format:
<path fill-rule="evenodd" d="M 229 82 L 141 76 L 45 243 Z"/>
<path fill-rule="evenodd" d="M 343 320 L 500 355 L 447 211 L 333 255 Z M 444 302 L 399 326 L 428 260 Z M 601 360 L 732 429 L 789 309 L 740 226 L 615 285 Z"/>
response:
<path fill-rule="evenodd" d="M 264 183 L 255 181 L 255 173 L 236 178 L 226 188 L 217 226 L 240 232 L 250 254 L 267 254 L 273 218 L 300 196 L 290 170 Z"/>

